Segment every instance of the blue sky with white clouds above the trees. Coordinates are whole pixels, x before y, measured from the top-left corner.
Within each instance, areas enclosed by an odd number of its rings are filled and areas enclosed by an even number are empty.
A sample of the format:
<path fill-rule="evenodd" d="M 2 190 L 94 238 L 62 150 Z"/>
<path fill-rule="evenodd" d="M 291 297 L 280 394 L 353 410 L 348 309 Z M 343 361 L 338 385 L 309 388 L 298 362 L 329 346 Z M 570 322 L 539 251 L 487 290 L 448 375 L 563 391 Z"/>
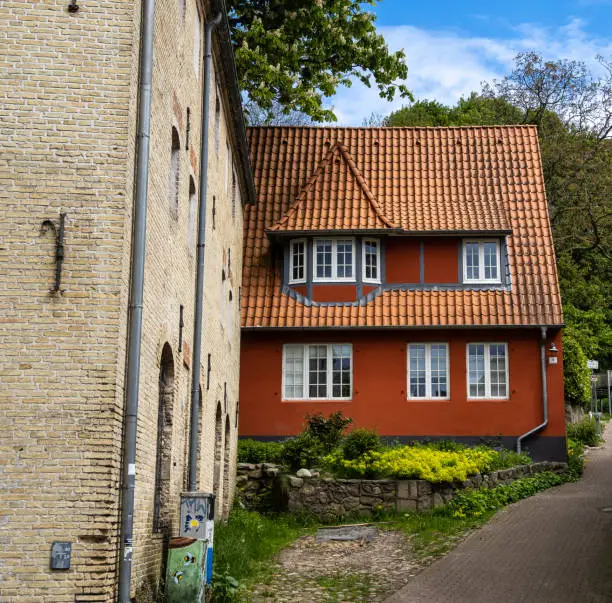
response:
<path fill-rule="evenodd" d="M 453 104 L 481 82 L 503 77 L 521 51 L 577 59 L 594 69 L 596 55 L 612 59 L 612 0 L 382 0 L 372 10 L 390 48 L 406 52 L 407 85 L 417 99 Z M 339 124 L 361 125 L 405 101 L 388 103 L 355 83 L 331 104 Z"/>

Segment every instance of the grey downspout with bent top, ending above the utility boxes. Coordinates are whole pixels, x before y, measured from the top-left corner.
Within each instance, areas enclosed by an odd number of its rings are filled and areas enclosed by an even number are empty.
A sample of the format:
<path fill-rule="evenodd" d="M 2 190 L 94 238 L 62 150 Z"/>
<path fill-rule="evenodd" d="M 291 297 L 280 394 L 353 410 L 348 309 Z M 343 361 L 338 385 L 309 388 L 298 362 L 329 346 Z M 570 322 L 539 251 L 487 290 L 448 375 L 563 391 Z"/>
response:
<path fill-rule="evenodd" d="M 208 189 L 208 114 L 210 109 L 210 65 L 212 61 L 212 30 L 221 23 L 222 13 L 206 23 L 204 28 L 204 62 L 202 66 L 202 125 L 200 131 L 200 195 L 198 208 L 198 256 L 193 319 L 193 361 L 191 383 L 191 431 L 189 441 L 189 484 L 194 492 L 198 475 L 198 415 L 200 412 L 200 362 L 202 358 L 202 305 L 204 296 L 204 248 L 206 245 L 206 194 Z"/>

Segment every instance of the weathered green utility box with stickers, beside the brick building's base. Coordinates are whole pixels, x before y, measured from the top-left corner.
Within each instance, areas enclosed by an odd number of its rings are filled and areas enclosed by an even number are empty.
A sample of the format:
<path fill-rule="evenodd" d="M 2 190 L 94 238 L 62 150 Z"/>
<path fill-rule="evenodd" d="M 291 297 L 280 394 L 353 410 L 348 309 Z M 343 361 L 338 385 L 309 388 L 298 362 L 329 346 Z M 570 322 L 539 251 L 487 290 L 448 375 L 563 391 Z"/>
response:
<path fill-rule="evenodd" d="M 166 600 L 203 603 L 206 592 L 206 540 L 178 537 L 168 545 Z"/>

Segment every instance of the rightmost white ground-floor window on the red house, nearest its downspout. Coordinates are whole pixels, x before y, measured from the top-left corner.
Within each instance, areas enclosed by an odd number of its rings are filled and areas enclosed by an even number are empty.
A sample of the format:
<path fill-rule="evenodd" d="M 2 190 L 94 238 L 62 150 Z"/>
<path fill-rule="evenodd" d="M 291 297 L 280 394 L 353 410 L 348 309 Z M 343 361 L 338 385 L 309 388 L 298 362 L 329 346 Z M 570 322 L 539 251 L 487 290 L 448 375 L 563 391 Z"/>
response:
<path fill-rule="evenodd" d="M 467 344 L 468 398 L 508 398 L 508 344 Z"/>

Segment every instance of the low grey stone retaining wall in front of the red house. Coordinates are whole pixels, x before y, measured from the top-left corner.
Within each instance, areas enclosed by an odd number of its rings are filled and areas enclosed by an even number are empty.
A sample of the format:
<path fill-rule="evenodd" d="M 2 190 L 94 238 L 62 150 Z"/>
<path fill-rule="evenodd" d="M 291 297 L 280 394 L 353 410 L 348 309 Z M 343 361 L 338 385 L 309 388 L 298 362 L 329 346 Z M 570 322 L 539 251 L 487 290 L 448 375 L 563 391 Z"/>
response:
<path fill-rule="evenodd" d="M 414 480 L 365 480 L 319 477 L 281 476 L 275 465 L 239 465 L 237 486 L 247 506 L 249 500 L 257 502 L 262 493 L 276 491 L 277 508 L 288 511 L 312 513 L 323 520 L 335 520 L 346 516 L 372 515 L 380 511 L 425 511 L 451 501 L 456 492 L 465 488 L 494 488 L 509 484 L 521 477 L 542 471 L 560 473 L 567 469 L 565 463 L 544 461 L 501 469 L 487 475 L 474 475 L 466 481 L 454 484 L 432 484 Z M 281 482 L 279 483 L 279 480 Z"/>

